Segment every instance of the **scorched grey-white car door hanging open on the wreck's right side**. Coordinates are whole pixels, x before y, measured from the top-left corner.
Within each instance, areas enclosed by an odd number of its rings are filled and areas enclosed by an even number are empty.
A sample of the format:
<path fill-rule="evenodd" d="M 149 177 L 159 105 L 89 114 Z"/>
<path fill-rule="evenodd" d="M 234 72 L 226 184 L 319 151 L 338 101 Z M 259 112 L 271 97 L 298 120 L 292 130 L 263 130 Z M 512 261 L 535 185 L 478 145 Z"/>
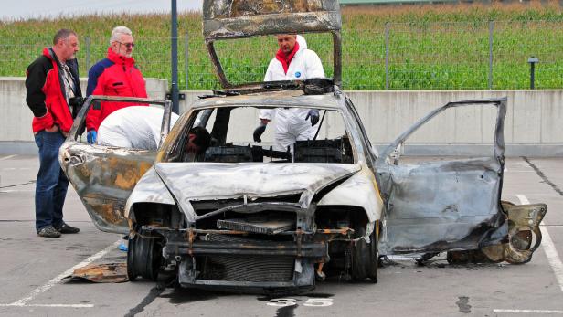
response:
<path fill-rule="evenodd" d="M 442 111 L 496 107 L 491 154 L 471 159 L 403 164 L 401 145 Z M 385 202 L 382 254 L 477 249 L 506 228 L 500 195 L 504 170 L 506 98 L 449 102 L 403 132 L 376 160 Z M 496 232 L 495 232 L 496 231 Z"/>

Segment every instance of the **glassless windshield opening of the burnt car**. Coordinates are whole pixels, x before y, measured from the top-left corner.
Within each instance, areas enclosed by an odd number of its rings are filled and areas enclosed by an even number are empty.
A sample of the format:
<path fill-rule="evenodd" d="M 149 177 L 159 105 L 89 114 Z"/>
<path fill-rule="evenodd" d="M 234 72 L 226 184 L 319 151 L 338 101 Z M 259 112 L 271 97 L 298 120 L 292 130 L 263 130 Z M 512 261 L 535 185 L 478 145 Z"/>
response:
<path fill-rule="evenodd" d="M 197 111 L 195 126 L 210 135 L 205 152 L 184 138 L 183 162 L 354 163 L 339 111 L 305 107 L 233 106 Z M 190 141 L 191 140 L 191 141 Z"/>

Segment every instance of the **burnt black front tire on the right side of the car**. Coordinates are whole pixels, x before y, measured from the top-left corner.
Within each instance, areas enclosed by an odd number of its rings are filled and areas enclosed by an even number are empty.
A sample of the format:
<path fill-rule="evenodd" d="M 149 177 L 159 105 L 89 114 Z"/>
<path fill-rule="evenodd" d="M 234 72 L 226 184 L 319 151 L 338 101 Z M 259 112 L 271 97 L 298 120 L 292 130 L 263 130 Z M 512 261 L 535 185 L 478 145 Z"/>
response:
<path fill-rule="evenodd" d="M 360 239 L 353 247 L 352 253 L 352 279 L 366 280 L 369 279 L 373 283 L 377 283 L 377 263 L 379 253 L 377 251 L 377 235 L 376 228 L 369 236 L 371 242 L 368 244 L 366 240 Z M 356 238 L 366 235 L 366 229 L 361 227 L 356 230 Z"/>

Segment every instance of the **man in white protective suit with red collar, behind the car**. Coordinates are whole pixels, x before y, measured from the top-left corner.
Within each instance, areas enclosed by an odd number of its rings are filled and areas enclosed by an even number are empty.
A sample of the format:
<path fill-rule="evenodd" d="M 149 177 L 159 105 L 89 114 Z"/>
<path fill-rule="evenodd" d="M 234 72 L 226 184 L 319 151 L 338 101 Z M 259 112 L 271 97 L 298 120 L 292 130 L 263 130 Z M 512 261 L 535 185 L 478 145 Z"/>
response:
<path fill-rule="evenodd" d="M 280 49 L 271 59 L 264 81 L 304 80 L 324 78 L 323 64 L 315 52 L 307 49 L 302 36 L 283 34 L 278 37 Z M 254 141 L 261 142 L 260 136 L 266 125 L 276 117 L 275 150 L 286 151 L 295 141 L 311 140 L 319 122 L 316 109 L 289 108 L 260 111 L 260 125 L 254 130 Z"/>

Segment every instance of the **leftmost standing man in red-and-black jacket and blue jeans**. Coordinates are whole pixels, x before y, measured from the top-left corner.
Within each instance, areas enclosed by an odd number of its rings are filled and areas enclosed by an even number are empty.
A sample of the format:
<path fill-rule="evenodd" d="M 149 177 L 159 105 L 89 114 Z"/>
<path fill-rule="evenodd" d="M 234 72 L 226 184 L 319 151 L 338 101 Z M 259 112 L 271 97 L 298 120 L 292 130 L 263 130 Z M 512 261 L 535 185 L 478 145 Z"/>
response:
<path fill-rule="evenodd" d="M 75 58 L 79 39 L 73 31 L 60 29 L 53 46 L 27 67 L 26 102 L 33 111 L 32 128 L 39 148 L 36 183 L 36 230 L 39 237 L 58 238 L 77 233 L 62 219 L 69 180 L 58 164 L 58 149 L 68 136 L 80 110 L 82 92 Z"/>

